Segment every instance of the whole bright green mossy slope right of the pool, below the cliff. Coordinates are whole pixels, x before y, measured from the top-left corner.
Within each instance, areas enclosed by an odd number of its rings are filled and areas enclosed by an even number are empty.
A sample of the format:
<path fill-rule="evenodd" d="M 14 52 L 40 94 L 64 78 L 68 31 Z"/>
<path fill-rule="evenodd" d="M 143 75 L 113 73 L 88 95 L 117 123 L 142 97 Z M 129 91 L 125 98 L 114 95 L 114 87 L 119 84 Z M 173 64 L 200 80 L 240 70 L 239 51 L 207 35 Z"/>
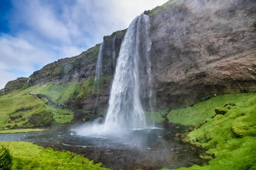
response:
<path fill-rule="evenodd" d="M 225 115 L 215 114 L 214 108 L 229 106 Z M 209 165 L 194 165 L 180 170 L 255 170 L 256 169 L 256 94 L 217 96 L 192 108 L 172 111 L 170 121 L 185 125 L 207 123 L 188 134 L 187 141 L 207 149 L 202 158 L 209 158 Z M 182 119 L 183 117 L 183 119 Z M 212 156 L 215 155 L 215 159 Z"/>

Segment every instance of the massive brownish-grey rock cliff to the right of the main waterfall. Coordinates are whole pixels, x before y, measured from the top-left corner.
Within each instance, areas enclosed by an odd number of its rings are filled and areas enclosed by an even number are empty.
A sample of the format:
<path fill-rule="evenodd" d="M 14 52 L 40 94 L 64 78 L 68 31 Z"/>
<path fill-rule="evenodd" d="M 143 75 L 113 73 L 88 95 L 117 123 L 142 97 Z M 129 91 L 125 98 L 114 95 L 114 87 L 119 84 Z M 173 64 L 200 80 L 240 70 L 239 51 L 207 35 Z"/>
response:
<path fill-rule="evenodd" d="M 151 16 L 151 62 L 158 104 L 176 105 L 256 88 L 253 0 L 166 3 Z"/>

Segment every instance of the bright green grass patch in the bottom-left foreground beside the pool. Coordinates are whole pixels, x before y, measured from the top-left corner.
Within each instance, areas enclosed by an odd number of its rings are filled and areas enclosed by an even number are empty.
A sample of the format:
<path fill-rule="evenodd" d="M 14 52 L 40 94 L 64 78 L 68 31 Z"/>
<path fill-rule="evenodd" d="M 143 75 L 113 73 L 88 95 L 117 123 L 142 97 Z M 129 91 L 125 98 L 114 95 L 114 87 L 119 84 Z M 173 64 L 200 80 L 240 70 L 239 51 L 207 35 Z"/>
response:
<path fill-rule="evenodd" d="M 0 142 L 9 145 L 13 156 L 12 170 L 101 170 L 101 163 L 93 164 L 83 156 L 71 152 L 44 149 L 30 142 Z"/>

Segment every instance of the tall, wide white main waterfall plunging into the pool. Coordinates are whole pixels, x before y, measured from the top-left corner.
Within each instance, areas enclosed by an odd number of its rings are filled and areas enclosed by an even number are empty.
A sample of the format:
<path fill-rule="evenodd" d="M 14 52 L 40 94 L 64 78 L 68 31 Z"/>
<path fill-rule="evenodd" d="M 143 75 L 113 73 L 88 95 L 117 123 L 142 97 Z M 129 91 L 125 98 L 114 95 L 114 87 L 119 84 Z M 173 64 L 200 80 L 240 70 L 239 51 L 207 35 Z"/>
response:
<path fill-rule="evenodd" d="M 121 45 L 111 88 L 105 128 L 118 126 L 145 128 L 145 114 L 140 100 L 142 72 L 146 67 L 151 84 L 151 48 L 149 17 L 141 14 L 130 24 Z M 148 92 L 149 97 L 152 91 Z M 151 101 L 151 99 L 149 99 Z"/>

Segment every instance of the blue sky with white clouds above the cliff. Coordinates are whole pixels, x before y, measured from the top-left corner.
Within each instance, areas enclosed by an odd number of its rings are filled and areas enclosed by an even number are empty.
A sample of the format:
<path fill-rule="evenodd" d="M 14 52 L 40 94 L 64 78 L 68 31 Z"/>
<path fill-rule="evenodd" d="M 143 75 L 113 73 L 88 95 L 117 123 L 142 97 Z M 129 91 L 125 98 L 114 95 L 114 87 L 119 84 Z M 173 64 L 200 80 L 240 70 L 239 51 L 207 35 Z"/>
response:
<path fill-rule="evenodd" d="M 125 29 L 167 0 L 1 0 L 0 89 Z"/>

